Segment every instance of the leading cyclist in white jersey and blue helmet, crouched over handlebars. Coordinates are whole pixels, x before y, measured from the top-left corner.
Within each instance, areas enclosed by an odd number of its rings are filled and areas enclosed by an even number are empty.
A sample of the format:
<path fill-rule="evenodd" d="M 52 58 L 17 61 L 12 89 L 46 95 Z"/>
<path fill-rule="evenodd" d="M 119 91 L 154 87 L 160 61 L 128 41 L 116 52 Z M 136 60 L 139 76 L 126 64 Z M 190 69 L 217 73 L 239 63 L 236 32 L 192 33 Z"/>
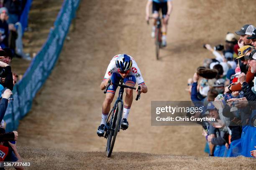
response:
<path fill-rule="evenodd" d="M 123 78 L 123 82 L 125 85 L 134 87 L 136 82 L 138 86 L 141 86 L 141 92 L 146 93 L 148 91 L 147 86 L 143 80 L 141 75 L 141 71 L 138 68 L 137 63 L 130 55 L 126 54 L 118 54 L 112 58 L 110 64 L 108 65 L 108 69 L 106 71 L 105 77 L 100 84 L 100 89 L 104 90 L 108 85 L 108 80 L 111 79 L 111 85 L 108 87 L 105 100 L 102 104 L 102 118 L 100 122 L 100 126 L 97 130 L 97 135 L 103 136 L 106 120 L 108 118 L 108 112 L 110 111 L 110 105 L 115 96 L 115 90 L 117 89 L 117 85 L 113 85 L 114 83 L 119 83 L 119 80 Z M 136 88 L 138 93 L 138 87 Z M 125 88 L 125 100 L 123 106 L 123 119 L 121 122 L 121 129 L 126 130 L 128 128 L 127 117 L 131 108 L 131 104 L 133 102 L 133 90 L 129 88 Z"/>

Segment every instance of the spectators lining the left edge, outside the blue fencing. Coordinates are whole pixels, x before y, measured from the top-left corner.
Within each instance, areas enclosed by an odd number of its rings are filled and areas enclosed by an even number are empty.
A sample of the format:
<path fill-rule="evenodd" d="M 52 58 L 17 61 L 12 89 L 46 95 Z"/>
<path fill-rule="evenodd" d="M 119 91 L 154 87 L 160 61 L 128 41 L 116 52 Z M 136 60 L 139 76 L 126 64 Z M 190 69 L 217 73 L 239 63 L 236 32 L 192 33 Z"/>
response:
<path fill-rule="evenodd" d="M 3 117 L 8 103 L 15 100 L 12 90 L 18 81 L 18 75 L 12 72 L 10 62 L 14 56 L 30 60 L 29 56 L 16 48 L 16 45 L 22 44 L 17 41 L 17 37 L 22 36 L 19 20 L 25 5 L 26 0 L 0 0 L 0 161 L 22 161 L 16 147 L 18 132 L 6 133 Z"/>

